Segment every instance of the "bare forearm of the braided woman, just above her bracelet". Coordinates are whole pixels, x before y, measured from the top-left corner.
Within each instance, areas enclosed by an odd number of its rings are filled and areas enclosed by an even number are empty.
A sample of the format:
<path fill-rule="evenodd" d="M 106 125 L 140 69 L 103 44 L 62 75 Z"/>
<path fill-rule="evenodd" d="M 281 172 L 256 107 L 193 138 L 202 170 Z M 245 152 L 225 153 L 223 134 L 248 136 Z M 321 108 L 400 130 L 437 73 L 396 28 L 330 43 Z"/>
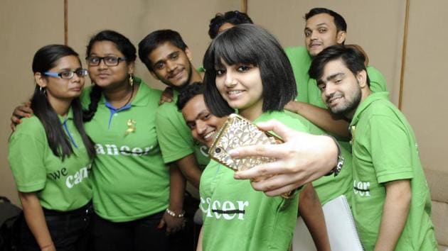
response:
<path fill-rule="evenodd" d="M 179 214 L 183 211 L 183 193 L 185 191 L 186 179 L 175 164 L 170 165 L 169 177 L 169 209 Z"/>

